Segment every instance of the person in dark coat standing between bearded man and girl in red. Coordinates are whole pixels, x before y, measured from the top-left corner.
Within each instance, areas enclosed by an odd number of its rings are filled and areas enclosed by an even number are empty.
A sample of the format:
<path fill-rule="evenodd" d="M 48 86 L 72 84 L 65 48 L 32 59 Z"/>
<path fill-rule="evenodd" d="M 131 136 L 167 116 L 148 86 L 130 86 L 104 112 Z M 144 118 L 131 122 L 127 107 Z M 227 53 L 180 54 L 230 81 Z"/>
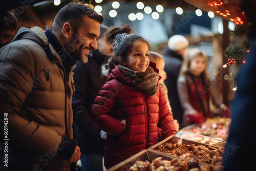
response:
<path fill-rule="evenodd" d="M 113 53 L 112 44 L 107 44 L 104 33 L 109 28 L 100 25 L 97 38 L 98 49 L 89 54 L 87 63 L 77 62 L 74 70 L 75 93 L 73 95 L 74 139 L 81 149 L 83 171 L 102 171 L 105 140 L 100 137 L 100 129 L 91 121 L 93 102 L 106 83 L 101 76 L 101 65 Z"/>

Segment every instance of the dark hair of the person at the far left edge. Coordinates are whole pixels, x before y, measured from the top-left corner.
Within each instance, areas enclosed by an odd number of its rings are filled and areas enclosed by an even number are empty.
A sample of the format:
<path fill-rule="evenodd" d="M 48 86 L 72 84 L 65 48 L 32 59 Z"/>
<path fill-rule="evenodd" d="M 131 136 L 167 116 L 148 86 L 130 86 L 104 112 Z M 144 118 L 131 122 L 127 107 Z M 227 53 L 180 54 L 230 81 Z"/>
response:
<path fill-rule="evenodd" d="M 11 29 L 16 30 L 17 18 L 11 11 L 0 12 L 0 32 Z"/>

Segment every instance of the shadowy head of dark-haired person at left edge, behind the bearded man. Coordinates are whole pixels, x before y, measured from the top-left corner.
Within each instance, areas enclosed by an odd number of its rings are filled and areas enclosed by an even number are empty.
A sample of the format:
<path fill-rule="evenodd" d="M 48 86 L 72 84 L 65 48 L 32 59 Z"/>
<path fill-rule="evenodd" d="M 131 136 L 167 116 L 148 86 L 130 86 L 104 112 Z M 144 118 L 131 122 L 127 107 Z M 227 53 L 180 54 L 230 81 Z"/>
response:
<path fill-rule="evenodd" d="M 18 22 L 11 11 L 0 12 L 0 49 L 12 42 Z"/>

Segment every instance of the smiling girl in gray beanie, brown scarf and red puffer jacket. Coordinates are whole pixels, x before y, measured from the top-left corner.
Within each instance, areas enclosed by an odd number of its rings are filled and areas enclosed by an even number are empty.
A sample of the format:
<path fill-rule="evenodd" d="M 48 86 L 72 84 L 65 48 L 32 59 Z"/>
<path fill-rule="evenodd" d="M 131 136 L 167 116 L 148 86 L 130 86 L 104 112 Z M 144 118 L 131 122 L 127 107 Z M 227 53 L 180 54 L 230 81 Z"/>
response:
<path fill-rule="evenodd" d="M 107 82 L 96 97 L 92 121 L 107 133 L 104 165 L 108 169 L 163 138 L 176 134 L 148 42 L 129 25 L 106 33 L 114 55 L 102 66 Z"/>

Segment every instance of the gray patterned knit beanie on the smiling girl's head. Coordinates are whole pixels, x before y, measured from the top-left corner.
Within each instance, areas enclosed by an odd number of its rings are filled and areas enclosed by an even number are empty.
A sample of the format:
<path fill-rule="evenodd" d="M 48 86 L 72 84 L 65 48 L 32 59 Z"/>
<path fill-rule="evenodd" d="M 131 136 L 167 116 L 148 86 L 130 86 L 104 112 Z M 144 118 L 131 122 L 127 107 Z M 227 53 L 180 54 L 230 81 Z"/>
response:
<path fill-rule="evenodd" d="M 138 34 L 127 34 L 122 33 L 115 36 L 115 40 L 113 41 L 113 50 L 115 57 L 118 59 L 123 51 L 127 48 L 127 46 L 135 39 L 142 38 Z"/>

